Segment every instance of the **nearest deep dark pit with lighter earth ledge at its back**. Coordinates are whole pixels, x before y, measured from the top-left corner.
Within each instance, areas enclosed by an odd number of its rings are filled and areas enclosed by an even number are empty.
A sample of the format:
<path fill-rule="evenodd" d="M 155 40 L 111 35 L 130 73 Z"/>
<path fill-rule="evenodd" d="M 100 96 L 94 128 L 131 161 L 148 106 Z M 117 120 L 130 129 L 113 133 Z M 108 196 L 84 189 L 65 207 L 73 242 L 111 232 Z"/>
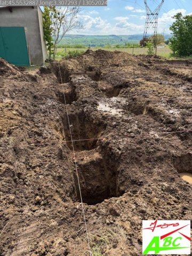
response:
<path fill-rule="evenodd" d="M 101 203 L 110 197 L 119 196 L 117 166 L 102 156 L 97 150 L 76 154 L 78 175 L 83 202 L 89 205 Z M 78 201 L 79 194 L 77 175 L 74 173 Z"/>

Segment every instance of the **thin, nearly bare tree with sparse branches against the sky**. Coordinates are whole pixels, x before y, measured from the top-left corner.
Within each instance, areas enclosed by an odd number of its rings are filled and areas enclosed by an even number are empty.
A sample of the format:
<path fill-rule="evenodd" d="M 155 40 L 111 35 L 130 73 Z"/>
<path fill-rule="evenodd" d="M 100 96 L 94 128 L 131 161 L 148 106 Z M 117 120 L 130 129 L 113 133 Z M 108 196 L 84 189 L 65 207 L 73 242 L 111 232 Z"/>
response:
<path fill-rule="evenodd" d="M 81 29 L 83 25 L 77 20 L 77 14 L 81 11 L 79 7 L 50 7 L 50 18 L 53 38 L 53 59 L 57 52 L 57 44 L 67 32 L 72 29 Z"/>

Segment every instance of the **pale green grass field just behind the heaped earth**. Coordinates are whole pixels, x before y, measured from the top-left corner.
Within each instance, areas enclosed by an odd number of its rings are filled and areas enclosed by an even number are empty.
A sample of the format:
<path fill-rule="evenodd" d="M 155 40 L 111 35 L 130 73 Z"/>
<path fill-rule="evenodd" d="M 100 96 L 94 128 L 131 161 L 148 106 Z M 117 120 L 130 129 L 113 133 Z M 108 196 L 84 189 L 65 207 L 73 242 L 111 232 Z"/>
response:
<path fill-rule="evenodd" d="M 82 49 L 77 49 L 77 48 L 67 48 L 67 49 L 63 49 L 63 48 L 58 48 L 57 50 L 57 56 L 56 59 L 60 60 L 63 57 L 65 57 L 65 53 L 71 52 L 71 51 L 78 51 L 78 52 L 85 52 L 88 48 L 82 48 Z M 147 54 L 147 48 L 103 48 L 103 47 L 91 47 L 92 51 L 96 51 L 98 49 L 102 49 L 102 50 L 106 50 L 106 51 L 123 51 L 123 52 L 127 52 L 130 54 L 135 54 L 135 55 L 139 55 L 139 54 Z M 165 47 L 158 47 L 157 48 L 157 55 L 165 57 L 165 58 L 170 58 L 171 57 L 171 49 L 169 48 L 169 46 L 165 46 Z"/>

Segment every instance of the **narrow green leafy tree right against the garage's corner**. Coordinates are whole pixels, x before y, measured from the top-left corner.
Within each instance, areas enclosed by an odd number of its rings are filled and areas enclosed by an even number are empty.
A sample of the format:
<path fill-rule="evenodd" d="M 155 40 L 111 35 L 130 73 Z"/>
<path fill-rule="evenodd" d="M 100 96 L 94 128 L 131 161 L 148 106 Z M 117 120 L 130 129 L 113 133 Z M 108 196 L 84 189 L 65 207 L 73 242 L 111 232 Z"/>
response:
<path fill-rule="evenodd" d="M 44 12 L 43 12 L 43 32 L 44 32 L 44 41 L 46 42 L 47 50 L 49 52 L 49 60 L 51 60 L 53 38 L 52 38 L 50 8 L 46 6 L 44 7 Z"/>

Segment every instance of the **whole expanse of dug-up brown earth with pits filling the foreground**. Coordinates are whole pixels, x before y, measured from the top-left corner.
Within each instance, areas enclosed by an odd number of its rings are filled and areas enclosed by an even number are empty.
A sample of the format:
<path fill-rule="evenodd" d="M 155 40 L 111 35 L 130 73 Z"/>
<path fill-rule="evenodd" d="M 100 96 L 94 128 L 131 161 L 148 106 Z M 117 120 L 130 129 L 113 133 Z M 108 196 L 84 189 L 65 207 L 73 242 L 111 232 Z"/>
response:
<path fill-rule="evenodd" d="M 142 255 L 142 220 L 190 220 L 191 84 L 190 61 L 118 51 L 0 59 L 0 255 L 90 255 L 79 185 L 93 256 Z"/>

